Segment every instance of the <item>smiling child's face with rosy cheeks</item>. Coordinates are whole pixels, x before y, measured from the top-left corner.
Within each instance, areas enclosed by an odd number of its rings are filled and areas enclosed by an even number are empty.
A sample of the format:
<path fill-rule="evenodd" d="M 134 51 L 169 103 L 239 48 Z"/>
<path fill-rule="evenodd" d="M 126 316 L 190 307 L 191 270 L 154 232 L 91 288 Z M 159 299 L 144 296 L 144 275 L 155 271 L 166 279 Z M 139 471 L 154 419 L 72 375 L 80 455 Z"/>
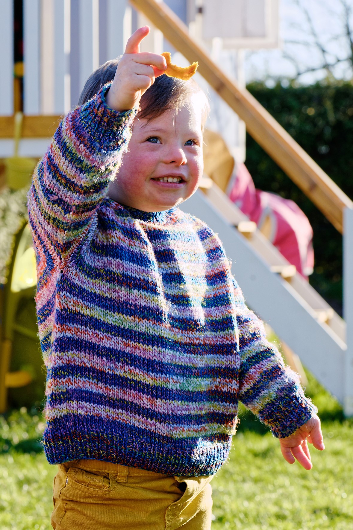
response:
<path fill-rule="evenodd" d="M 149 122 L 134 120 L 109 197 L 139 210 L 167 210 L 194 193 L 202 172 L 202 108 L 194 94 L 190 109 L 167 110 Z"/>

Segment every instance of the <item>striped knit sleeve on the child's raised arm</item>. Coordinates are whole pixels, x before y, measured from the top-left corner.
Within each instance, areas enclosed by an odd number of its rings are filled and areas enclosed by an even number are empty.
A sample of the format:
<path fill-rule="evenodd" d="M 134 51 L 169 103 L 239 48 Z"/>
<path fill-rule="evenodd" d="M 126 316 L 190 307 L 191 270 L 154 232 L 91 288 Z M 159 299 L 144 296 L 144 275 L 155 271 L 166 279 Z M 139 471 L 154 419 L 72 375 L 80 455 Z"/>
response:
<path fill-rule="evenodd" d="M 61 260 L 88 227 L 130 139 L 136 109 L 116 112 L 98 94 L 62 120 L 28 193 L 33 234 Z"/>

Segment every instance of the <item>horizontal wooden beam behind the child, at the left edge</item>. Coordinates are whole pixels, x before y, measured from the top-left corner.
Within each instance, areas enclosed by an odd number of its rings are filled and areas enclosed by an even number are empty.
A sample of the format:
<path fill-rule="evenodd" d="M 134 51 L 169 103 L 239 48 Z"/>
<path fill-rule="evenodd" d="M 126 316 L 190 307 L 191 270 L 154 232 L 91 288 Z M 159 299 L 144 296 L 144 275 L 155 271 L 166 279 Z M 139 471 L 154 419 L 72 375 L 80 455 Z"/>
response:
<path fill-rule="evenodd" d="M 51 138 L 61 116 L 23 116 L 21 138 Z M 14 117 L 0 116 L 0 138 L 13 138 Z"/>

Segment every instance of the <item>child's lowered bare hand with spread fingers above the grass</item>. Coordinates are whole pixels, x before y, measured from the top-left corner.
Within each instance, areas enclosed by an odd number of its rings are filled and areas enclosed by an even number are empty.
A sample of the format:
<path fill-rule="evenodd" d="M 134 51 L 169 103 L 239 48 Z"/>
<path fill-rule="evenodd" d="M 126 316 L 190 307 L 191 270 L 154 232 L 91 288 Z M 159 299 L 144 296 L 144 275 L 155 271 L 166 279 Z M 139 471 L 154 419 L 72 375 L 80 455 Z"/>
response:
<path fill-rule="evenodd" d="M 306 470 L 311 470 L 313 464 L 307 442 L 313 444 L 319 451 L 323 451 L 325 448 L 320 419 L 316 414 L 290 436 L 279 438 L 283 458 L 289 464 L 294 464 L 296 458 Z"/>

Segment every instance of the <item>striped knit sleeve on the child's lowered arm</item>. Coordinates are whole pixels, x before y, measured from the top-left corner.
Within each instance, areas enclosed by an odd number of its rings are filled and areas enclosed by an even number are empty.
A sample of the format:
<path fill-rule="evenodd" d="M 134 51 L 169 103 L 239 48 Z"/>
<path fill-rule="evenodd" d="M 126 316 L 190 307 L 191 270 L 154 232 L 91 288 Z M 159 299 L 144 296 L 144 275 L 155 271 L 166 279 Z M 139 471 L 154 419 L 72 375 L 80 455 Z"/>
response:
<path fill-rule="evenodd" d="M 239 330 L 239 400 L 268 425 L 277 438 L 292 434 L 317 408 L 306 398 L 299 376 L 283 364 L 282 356 L 266 340 L 263 323 L 245 305 L 234 282 Z"/>

